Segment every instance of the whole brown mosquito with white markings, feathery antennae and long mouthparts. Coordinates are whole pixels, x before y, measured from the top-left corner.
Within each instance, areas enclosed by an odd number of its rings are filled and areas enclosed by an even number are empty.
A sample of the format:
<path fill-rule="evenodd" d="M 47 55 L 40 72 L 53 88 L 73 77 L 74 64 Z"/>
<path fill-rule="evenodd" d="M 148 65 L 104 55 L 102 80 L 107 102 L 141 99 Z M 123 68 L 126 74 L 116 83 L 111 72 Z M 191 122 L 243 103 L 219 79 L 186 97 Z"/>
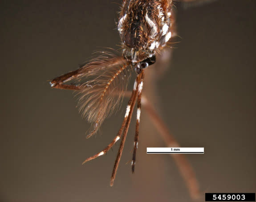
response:
<path fill-rule="evenodd" d="M 168 136 L 170 133 L 150 106 L 149 101 L 142 96 L 144 72 L 147 67 L 155 63 L 161 52 L 167 47 L 171 37 L 176 35 L 174 14 L 172 0 L 123 0 L 117 25 L 122 41 L 122 56 L 102 52 L 103 55 L 91 60 L 79 69 L 61 75 L 50 82 L 52 88 L 78 92 L 80 112 L 89 123 L 92 123 L 92 129 L 87 135 L 89 138 L 98 131 L 104 119 L 117 109 L 124 95 L 127 95 L 126 88 L 129 75 L 135 70 L 137 77 L 117 135 L 105 149 L 83 162 L 84 164 L 106 154 L 121 139 L 110 186 L 114 184 L 136 101 L 137 118 L 131 162 L 132 172 L 134 173 L 138 148 L 141 105 L 144 105 L 167 145 L 178 146 L 176 141 Z M 74 82 L 75 84 L 67 84 L 67 82 Z M 187 178 L 188 186 L 194 186 L 191 189 L 197 189 L 195 176 L 186 159 L 179 154 L 175 159 L 177 159 L 183 177 L 185 180 Z M 183 168 L 181 168 L 182 166 Z"/>

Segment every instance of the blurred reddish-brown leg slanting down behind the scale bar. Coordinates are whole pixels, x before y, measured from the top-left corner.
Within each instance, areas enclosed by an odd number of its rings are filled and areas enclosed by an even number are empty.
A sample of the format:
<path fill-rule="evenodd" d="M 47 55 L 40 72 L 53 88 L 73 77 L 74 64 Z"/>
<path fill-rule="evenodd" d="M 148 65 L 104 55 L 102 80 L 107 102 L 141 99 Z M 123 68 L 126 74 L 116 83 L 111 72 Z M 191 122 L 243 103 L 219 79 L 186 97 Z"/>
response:
<path fill-rule="evenodd" d="M 179 143 L 177 143 L 173 135 L 171 135 L 163 120 L 158 116 L 158 113 L 154 110 L 154 107 L 143 96 L 141 101 L 143 108 L 150 116 L 152 123 L 159 131 L 159 134 L 167 144 L 167 147 L 179 147 Z M 184 154 L 171 154 L 171 156 L 174 158 L 175 163 L 178 166 L 179 172 L 181 173 L 185 183 L 187 184 L 187 188 L 189 190 L 191 198 L 199 198 L 199 183 L 195 177 L 195 172 L 192 169 L 192 166 L 187 161 L 187 158 L 185 157 Z"/>

